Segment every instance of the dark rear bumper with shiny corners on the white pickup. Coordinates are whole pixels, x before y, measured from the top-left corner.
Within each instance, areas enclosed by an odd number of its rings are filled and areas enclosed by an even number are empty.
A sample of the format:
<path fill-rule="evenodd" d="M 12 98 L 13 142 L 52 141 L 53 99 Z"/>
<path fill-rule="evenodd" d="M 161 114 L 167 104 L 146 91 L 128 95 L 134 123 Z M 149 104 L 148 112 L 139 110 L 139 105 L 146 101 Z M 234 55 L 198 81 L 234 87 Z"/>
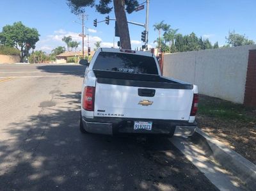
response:
<path fill-rule="evenodd" d="M 134 130 L 134 121 L 152 121 L 152 130 Z M 163 119 L 83 118 L 83 126 L 87 132 L 94 134 L 159 134 L 172 137 L 193 135 L 197 124 Z"/>

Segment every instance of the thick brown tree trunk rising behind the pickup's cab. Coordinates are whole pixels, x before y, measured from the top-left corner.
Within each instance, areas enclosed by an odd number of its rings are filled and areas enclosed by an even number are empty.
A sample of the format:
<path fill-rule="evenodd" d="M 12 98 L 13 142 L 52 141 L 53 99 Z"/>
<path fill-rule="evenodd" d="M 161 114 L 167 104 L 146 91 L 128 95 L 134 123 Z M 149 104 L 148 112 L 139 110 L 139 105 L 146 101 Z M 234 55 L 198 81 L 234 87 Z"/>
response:
<path fill-rule="evenodd" d="M 119 29 L 121 47 L 122 49 L 131 50 L 131 40 L 127 23 L 127 17 L 124 10 L 124 0 L 114 0 L 114 9 L 116 16 L 116 24 Z"/>

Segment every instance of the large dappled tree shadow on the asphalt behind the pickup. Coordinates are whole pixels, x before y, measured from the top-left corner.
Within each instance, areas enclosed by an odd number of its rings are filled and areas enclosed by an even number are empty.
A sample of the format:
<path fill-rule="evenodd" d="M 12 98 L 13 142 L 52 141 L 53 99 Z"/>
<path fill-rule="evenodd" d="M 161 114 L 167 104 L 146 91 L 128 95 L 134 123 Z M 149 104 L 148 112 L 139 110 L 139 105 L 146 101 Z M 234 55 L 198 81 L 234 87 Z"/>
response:
<path fill-rule="evenodd" d="M 166 138 L 81 134 L 79 96 L 6 128 L 0 190 L 217 190 Z"/>

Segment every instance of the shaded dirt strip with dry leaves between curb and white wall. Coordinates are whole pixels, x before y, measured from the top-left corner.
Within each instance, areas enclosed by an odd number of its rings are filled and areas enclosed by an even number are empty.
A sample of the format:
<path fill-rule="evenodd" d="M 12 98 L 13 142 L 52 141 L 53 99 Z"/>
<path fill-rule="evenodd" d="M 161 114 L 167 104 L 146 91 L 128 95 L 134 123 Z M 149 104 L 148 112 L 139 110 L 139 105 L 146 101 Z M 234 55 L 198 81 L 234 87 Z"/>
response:
<path fill-rule="evenodd" d="M 256 164 L 256 110 L 200 95 L 199 128 Z"/>

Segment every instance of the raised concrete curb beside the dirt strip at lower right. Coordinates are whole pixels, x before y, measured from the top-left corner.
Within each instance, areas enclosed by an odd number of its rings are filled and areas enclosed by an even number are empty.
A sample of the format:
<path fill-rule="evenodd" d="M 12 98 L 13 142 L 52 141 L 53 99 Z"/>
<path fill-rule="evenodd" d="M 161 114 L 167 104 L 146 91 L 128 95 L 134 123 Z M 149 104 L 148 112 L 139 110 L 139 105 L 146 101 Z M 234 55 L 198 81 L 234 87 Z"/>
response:
<path fill-rule="evenodd" d="M 233 172 L 245 183 L 250 190 L 256 188 L 256 165 L 242 157 L 232 149 L 227 148 L 223 143 L 212 139 L 199 128 L 196 128 L 195 134 L 191 137 L 193 141 L 199 141 L 207 152 L 214 157 L 225 169 Z M 199 140 L 198 140 L 199 139 Z M 210 150 L 209 150 L 210 149 Z"/>

